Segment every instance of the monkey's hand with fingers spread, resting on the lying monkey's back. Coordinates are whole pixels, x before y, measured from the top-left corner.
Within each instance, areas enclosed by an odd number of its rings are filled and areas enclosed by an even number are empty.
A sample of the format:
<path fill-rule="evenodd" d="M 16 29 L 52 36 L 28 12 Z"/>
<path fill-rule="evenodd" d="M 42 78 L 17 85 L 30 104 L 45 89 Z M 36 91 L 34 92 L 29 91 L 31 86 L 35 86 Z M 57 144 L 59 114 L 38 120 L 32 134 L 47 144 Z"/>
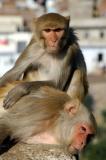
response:
<path fill-rule="evenodd" d="M 24 84 L 18 84 L 11 89 L 3 101 L 3 107 L 8 109 L 12 107 L 20 98 L 28 94 L 28 90 Z"/>

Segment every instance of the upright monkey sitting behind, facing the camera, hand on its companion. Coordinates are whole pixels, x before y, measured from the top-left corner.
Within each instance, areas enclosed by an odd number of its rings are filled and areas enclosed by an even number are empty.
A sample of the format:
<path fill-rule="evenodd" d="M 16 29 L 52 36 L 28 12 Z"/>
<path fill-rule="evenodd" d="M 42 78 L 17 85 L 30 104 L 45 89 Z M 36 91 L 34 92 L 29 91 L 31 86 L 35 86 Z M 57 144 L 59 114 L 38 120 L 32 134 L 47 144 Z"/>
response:
<path fill-rule="evenodd" d="M 22 96 L 31 91 L 30 81 L 52 81 L 56 88 L 70 96 L 71 79 L 78 71 L 80 85 L 74 85 L 77 97 L 83 100 L 88 92 L 86 64 L 77 42 L 77 37 L 69 27 L 70 18 L 57 13 L 48 13 L 34 21 L 34 34 L 29 45 L 16 61 L 14 67 L 0 79 L 0 86 L 14 80 L 24 80 L 9 92 L 4 107 L 13 106 Z M 77 82 L 77 80 L 76 80 Z"/>

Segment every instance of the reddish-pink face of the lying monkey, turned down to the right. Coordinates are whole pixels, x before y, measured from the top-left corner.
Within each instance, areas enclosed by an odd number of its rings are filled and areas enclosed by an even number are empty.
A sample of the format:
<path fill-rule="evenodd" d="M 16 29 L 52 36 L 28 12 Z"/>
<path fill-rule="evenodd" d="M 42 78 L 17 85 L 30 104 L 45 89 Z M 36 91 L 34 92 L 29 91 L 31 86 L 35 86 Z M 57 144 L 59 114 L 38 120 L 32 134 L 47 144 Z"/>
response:
<path fill-rule="evenodd" d="M 73 132 L 72 142 L 69 146 L 71 153 L 81 151 L 94 136 L 94 130 L 88 124 L 75 125 Z"/>

